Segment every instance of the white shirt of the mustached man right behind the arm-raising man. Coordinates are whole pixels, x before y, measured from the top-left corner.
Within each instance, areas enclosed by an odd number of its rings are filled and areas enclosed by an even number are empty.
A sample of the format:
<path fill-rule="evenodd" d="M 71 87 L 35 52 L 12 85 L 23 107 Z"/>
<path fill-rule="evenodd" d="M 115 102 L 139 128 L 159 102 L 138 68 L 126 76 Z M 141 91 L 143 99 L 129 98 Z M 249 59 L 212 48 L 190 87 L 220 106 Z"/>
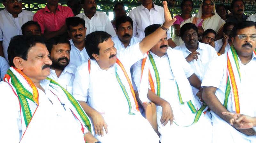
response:
<path fill-rule="evenodd" d="M 115 48 L 117 50 L 125 49 L 124 44 L 120 41 L 120 39 L 118 38 L 118 35 L 116 35 L 115 37 L 112 37 L 112 41 L 115 43 Z M 140 38 L 132 36 L 132 39 L 131 39 L 129 45 L 126 48 L 129 48 L 130 46 L 132 46 L 140 41 L 141 41 Z"/>

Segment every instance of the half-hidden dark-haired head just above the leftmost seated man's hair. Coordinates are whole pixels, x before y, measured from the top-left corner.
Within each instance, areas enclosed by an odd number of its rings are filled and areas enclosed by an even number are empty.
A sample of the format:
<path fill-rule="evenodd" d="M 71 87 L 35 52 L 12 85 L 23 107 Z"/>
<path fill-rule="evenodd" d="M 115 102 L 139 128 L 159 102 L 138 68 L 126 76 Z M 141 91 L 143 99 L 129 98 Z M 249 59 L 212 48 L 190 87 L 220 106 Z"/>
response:
<path fill-rule="evenodd" d="M 40 25 L 36 21 L 28 21 L 21 26 L 23 35 L 41 35 Z"/>

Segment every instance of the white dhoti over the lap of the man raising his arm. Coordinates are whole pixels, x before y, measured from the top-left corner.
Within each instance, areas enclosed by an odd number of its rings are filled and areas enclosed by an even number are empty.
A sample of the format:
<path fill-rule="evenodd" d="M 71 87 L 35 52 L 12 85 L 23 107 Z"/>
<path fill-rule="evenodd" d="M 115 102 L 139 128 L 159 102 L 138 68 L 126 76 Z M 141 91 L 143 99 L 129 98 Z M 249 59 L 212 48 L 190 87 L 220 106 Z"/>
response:
<path fill-rule="evenodd" d="M 141 115 L 116 115 L 104 117 L 108 134 L 95 135 L 102 143 L 159 143 L 159 137 Z M 132 132 L 131 132 L 132 131 Z"/>

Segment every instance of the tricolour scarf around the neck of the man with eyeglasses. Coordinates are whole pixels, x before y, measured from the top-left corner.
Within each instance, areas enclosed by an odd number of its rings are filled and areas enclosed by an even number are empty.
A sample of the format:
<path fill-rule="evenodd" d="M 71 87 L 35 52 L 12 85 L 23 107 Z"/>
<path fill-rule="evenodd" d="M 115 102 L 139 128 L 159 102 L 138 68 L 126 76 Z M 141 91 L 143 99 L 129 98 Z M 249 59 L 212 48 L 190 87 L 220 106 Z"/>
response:
<path fill-rule="evenodd" d="M 256 51 L 253 51 L 256 55 Z M 228 99 L 232 98 L 233 111 L 240 113 L 239 96 L 241 95 L 241 73 L 238 63 L 238 56 L 234 46 L 231 46 L 227 53 L 227 86 L 225 91 L 224 107 L 228 109 Z"/>

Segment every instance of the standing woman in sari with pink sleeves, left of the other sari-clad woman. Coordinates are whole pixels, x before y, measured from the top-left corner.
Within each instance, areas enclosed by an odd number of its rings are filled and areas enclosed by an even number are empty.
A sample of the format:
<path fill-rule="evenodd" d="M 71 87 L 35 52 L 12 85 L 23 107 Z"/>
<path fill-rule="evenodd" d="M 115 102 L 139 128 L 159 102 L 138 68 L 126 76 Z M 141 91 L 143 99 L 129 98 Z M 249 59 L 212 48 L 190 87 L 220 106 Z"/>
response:
<path fill-rule="evenodd" d="M 174 34 L 173 34 L 173 41 L 174 43 L 179 46 L 183 43 L 180 38 L 180 27 L 182 27 L 185 23 L 193 23 L 198 28 L 198 34 L 202 35 L 204 33 L 204 29 L 202 27 L 203 19 L 192 17 L 190 12 L 193 9 L 193 2 L 192 0 L 183 0 L 180 4 L 181 8 L 181 15 L 176 15 L 175 18 L 177 19 L 173 23 Z"/>

